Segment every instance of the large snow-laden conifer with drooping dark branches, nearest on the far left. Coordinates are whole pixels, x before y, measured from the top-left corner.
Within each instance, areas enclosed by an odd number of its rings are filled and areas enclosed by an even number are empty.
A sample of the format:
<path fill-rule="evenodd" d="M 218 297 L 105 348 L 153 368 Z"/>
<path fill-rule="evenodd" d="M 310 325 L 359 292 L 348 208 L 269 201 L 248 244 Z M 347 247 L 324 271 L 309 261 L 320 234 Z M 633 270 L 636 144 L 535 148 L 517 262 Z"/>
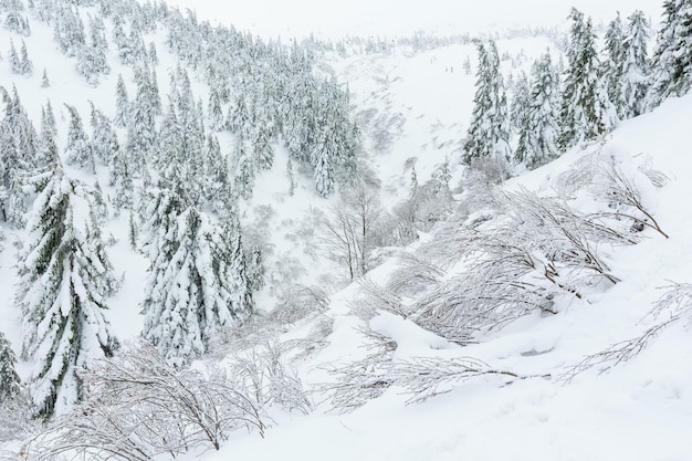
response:
<path fill-rule="evenodd" d="M 19 253 L 17 290 L 22 357 L 35 360 L 30 394 L 41 418 L 77 402 L 83 392 L 78 370 L 87 359 L 111 356 L 118 347 L 104 316 L 117 282 L 98 223 L 93 216 L 84 227 L 75 222 L 74 202 L 87 199 L 85 186 L 59 165 L 48 177 Z"/>

